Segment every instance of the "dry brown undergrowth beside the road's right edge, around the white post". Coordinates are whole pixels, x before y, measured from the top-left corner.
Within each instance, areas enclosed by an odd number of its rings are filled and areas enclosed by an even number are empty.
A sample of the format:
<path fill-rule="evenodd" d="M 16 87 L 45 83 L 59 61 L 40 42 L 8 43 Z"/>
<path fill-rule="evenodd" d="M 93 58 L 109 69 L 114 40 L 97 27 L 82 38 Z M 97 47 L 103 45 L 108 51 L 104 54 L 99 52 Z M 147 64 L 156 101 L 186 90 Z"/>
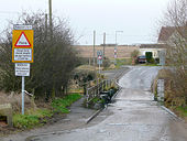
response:
<path fill-rule="evenodd" d="M 186 105 L 187 105 L 185 101 L 184 95 L 183 95 L 184 89 L 183 87 L 177 87 L 177 84 L 176 84 L 177 79 L 176 77 L 174 77 L 175 75 L 176 74 L 174 74 L 169 69 L 161 69 L 158 72 L 156 79 L 154 79 L 152 84 L 152 90 L 155 95 L 157 95 L 157 89 L 156 89 L 157 79 L 164 79 L 165 80 L 164 105 L 167 108 L 172 109 L 176 115 L 178 115 L 179 117 L 183 117 L 187 121 L 186 110 L 182 110 L 182 109 L 186 109 Z M 178 77 L 178 79 L 182 79 L 182 78 Z"/>

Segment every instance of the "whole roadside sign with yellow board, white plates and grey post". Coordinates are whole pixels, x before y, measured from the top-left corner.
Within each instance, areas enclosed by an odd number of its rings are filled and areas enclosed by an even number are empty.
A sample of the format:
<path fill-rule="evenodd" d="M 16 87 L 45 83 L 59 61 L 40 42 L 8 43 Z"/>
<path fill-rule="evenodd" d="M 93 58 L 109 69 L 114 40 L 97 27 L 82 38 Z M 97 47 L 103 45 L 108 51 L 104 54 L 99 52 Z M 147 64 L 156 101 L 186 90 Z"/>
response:
<path fill-rule="evenodd" d="M 30 64 L 33 63 L 32 25 L 13 25 L 12 62 L 15 63 L 15 76 L 22 77 L 22 115 L 24 115 L 24 77 L 30 76 Z"/>

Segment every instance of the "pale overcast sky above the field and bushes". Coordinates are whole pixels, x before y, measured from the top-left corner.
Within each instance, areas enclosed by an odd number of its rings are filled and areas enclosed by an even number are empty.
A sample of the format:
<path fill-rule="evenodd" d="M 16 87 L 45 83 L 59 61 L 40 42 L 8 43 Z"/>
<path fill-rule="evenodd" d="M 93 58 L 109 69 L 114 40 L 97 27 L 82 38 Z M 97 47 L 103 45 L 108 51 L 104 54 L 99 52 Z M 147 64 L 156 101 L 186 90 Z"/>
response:
<path fill-rule="evenodd" d="M 92 44 L 96 30 L 97 44 L 102 43 L 103 32 L 107 43 L 119 44 L 155 43 L 163 17 L 172 0 L 52 0 L 53 13 L 69 21 L 75 40 L 79 44 Z M 22 11 L 48 12 L 48 0 L 0 0 L 0 32 L 8 26 L 8 20 L 15 20 Z"/>

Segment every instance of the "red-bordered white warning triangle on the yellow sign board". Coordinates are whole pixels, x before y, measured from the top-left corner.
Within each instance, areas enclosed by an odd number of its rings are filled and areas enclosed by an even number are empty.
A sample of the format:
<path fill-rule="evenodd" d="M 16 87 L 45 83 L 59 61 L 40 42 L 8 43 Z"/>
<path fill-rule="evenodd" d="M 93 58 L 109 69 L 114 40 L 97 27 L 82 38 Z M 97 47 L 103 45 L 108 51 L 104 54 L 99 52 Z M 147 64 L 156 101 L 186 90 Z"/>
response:
<path fill-rule="evenodd" d="M 15 47 L 31 47 L 31 43 L 30 41 L 28 40 L 26 35 L 24 32 L 22 32 L 20 34 L 20 37 L 18 39 L 18 41 L 15 42 Z"/>

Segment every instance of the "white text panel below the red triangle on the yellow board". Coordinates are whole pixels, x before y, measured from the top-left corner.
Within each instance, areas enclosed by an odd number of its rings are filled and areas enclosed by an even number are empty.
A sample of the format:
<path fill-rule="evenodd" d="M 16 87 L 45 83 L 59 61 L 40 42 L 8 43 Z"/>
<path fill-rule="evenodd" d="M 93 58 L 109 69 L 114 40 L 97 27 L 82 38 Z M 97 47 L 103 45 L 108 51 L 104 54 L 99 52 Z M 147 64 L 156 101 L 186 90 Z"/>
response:
<path fill-rule="evenodd" d="M 14 61 L 32 61 L 32 48 L 14 48 Z"/>

